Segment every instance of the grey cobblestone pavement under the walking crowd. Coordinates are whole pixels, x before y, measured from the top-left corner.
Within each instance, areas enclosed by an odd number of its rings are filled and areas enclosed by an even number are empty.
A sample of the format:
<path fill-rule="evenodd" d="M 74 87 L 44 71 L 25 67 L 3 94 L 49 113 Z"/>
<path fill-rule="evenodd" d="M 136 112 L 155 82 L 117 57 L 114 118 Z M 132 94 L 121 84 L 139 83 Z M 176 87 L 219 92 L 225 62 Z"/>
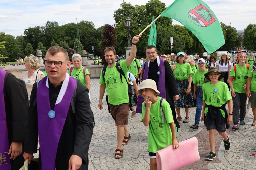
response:
<path fill-rule="evenodd" d="M 116 126 L 108 113 L 105 98 L 103 99 L 103 110 L 98 109 L 99 101 L 99 79 L 91 79 L 91 108 L 94 113 L 95 128 L 93 139 L 90 144 L 89 169 L 97 170 L 128 170 L 128 169 L 149 169 L 149 157 L 147 152 L 147 134 L 148 127 L 145 127 L 140 121 L 141 114 L 136 117 L 129 116 L 128 132 L 131 134 L 131 140 L 123 146 L 124 157 L 115 159 L 114 153 L 117 145 Z M 190 121 L 181 123 L 181 128 L 177 135 L 179 142 L 190 137 L 198 138 L 198 149 L 200 160 L 197 163 L 186 166 L 182 169 L 255 169 L 256 160 L 251 153 L 256 154 L 256 127 L 251 126 L 253 122 L 252 109 L 247 109 L 245 125 L 240 126 L 239 130 L 232 130 L 233 123 L 227 133 L 230 138 L 231 148 L 224 149 L 223 138 L 218 133 L 215 134 L 215 152 L 217 157 L 213 161 L 205 160 L 210 152 L 208 132 L 200 122 L 199 129 L 190 129 L 194 124 L 196 108 L 189 109 Z M 130 112 L 131 115 L 131 112 Z M 185 110 L 181 109 L 181 115 L 185 117 Z M 184 153 L 188 154 L 188 153 Z M 193 156 L 193 155 L 187 155 Z M 93 163 L 93 164 L 92 164 Z"/>

